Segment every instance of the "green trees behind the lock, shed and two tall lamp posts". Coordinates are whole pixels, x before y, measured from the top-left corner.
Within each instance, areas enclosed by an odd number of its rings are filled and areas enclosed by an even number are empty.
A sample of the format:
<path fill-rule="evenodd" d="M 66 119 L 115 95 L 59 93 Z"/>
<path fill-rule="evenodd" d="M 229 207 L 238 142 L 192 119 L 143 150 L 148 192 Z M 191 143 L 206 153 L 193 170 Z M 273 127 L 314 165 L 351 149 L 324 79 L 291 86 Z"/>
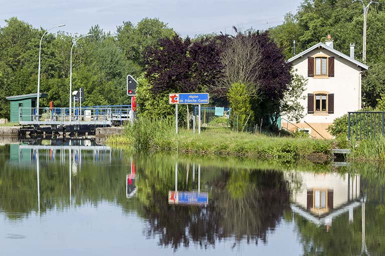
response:
<path fill-rule="evenodd" d="M 160 29 L 155 21 L 162 23 L 155 19 L 139 22 L 137 29 L 140 31 L 135 31 L 134 37 L 139 40 L 141 35 L 146 35 L 146 39 L 141 41 L 152 45 L 151 42 L 163 36 L 163 33 L 155 32 Z M 16 17 L 6 22 L 4 27 L 0 27 L 0 117 L 9 118 L 7 96 L 37 91 L 39 42 L 45 30 L 33 28 Z M 165 28 L 165 31 L 173 34 L 172 29 Z M 92 26 L 89 32 L 93 35 L 79 40 L 73 48 L 72 89 L 85 88 L 84 105 L 129 104 L 125 77 L 127 73 L 138 76 L 143 68 L 141 62 L 125 56 L 122 51 L 125 44 L 121 43 L 127 39 L 124 35 L 118 33 L 115 37 L 98 25 Z M 153 35 L 149 38 L 147 35 L 151 33 Z M 48 106 L 51 100 L 57 107 L 68 107 L 70 53 L 72 41 L 78 36 L 60 31 L 44 36 L 40 91 L 48 93 L 48 97 L 41 98 L 41 107 Z M 138 48 L 145 46 L 141 44 Z"/>

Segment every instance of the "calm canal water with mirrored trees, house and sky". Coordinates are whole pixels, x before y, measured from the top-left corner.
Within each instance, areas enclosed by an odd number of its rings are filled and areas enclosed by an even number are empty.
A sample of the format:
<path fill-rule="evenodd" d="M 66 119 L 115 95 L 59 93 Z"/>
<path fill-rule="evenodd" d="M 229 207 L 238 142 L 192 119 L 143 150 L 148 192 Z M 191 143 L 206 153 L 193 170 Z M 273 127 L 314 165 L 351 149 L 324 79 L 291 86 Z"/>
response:
<path fill-rule="evenodd" d="M 0 145 L 0 254 L 385 255 L 384 183 L 373 165 L 27 140 Z"/>

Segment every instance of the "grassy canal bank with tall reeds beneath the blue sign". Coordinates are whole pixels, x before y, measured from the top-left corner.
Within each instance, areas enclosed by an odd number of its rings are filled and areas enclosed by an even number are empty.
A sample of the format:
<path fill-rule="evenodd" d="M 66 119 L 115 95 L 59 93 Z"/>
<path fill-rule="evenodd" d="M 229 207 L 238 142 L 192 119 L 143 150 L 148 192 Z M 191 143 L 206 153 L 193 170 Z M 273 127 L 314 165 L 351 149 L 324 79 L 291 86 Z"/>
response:
<path fill-rule="evenodd" d="M 176 135 L 170 119 L 138 119 L 122 136 L 110 137 L 111 145 L 127 145 L 138 152 L 178 152 L 197 155 L 231 155 L 261 159 L 297 160 L 330 158 L 331 140 L 277 137 L 227 128 L 211 128 L 201 134 L 181 129 Z"/>

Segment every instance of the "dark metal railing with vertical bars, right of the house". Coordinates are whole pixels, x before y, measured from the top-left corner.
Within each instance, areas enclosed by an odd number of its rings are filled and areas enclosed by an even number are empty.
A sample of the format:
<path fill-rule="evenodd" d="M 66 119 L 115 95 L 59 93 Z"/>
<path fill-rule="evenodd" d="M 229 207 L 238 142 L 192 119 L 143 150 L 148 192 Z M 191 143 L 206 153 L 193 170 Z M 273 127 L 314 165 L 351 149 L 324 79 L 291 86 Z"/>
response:
<path fill-rule="evenodd" d="M 384 113 L 380 111 L 347 112 L 347 137 L 366 139 L 383 136 Z"/>

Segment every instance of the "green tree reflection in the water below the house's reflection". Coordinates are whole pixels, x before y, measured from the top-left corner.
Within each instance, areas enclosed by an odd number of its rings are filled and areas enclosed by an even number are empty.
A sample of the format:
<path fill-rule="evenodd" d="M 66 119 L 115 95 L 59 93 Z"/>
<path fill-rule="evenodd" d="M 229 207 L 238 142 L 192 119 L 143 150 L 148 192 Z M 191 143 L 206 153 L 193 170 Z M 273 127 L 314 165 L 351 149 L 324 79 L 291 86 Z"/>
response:
<path fill-rule="evenodd" d="M 359 255 L 362 246 L 361 206 L 354 209 L 353 215 L 353 223 L 349 223 L 348 212 L 336 217 L 328 230 L 295 215 L 303 255 Z M 385 255 L 385 214 L 374 203 L 365 203 L 365 229 L 369 254 Z"/>

